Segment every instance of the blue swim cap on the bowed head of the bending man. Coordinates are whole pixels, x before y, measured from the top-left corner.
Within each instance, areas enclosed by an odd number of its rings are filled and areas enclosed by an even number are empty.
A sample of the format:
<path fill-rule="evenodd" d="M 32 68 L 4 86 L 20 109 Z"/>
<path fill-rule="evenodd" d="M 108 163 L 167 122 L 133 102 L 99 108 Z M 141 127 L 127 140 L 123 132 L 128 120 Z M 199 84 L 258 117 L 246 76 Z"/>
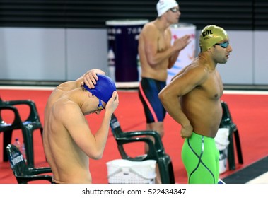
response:
<path fill-rule="evenodd" d="M 97 74 L 97 76 L 98 81 L 95 84 L 95 88 L 88 88 L 86 84 L 84 84 L 83 87 L 97 98 L 100 98 L 100 100 L 103 100 L 103 102 L 107 103 L 112 97 L 112 93 L 116 91 L 115 82 L 112 81 L 112 78 L 109 76 L 104 76 L 101 74 Z"/>

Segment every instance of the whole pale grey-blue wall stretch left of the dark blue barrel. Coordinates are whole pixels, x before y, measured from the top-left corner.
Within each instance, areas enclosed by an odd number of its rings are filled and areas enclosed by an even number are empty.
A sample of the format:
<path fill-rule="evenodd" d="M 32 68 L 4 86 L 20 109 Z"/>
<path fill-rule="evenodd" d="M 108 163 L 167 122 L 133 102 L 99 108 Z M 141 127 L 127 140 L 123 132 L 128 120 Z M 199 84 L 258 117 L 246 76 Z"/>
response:
<path fill-rule="evenodd" d="M 105 30 L 0 28 L 0 80 L 66 81 L 107 72 Z"/>

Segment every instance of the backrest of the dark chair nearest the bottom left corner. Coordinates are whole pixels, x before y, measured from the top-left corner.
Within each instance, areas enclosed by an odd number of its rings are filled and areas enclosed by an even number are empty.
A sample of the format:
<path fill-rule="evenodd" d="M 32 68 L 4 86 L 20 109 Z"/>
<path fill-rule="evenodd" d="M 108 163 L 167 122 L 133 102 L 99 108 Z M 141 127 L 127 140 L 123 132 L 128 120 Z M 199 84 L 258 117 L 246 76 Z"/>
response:
<path fill-rule="evenodd" d="M 25 159 L 23 158 L 21 151 L 19 151 L 13 144 L 8 144 L 8 146 L 6 146 L 6 151 L 8 153 L 8 160 L 11 164 L 13 174 L 16 177 L 25 175 L 28 171 L 28 165 L 25 163 Z"/>

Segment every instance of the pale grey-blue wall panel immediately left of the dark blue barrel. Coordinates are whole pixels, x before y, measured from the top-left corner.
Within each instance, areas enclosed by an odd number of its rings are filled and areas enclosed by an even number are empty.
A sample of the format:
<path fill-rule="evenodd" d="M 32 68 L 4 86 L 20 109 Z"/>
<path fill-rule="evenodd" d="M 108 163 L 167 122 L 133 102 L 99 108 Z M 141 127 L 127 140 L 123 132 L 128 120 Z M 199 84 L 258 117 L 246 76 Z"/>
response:
<path fill-rule="evenodd" d="M 107 72 L 107 31 L 67 29 L 67 80 L 80 77 L 89 69 Z"/>

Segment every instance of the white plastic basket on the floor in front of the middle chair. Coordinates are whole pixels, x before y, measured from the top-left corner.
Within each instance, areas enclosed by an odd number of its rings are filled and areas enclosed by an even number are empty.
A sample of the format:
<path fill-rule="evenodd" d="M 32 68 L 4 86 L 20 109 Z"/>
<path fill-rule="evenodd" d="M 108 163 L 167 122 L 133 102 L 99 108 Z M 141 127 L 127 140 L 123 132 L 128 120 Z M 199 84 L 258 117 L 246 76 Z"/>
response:
<path fill-rule="evenodd" d="M 110 184 L 154 184 L 156 161 L 128 161 L 116 159 L 106 163 Z"/>

